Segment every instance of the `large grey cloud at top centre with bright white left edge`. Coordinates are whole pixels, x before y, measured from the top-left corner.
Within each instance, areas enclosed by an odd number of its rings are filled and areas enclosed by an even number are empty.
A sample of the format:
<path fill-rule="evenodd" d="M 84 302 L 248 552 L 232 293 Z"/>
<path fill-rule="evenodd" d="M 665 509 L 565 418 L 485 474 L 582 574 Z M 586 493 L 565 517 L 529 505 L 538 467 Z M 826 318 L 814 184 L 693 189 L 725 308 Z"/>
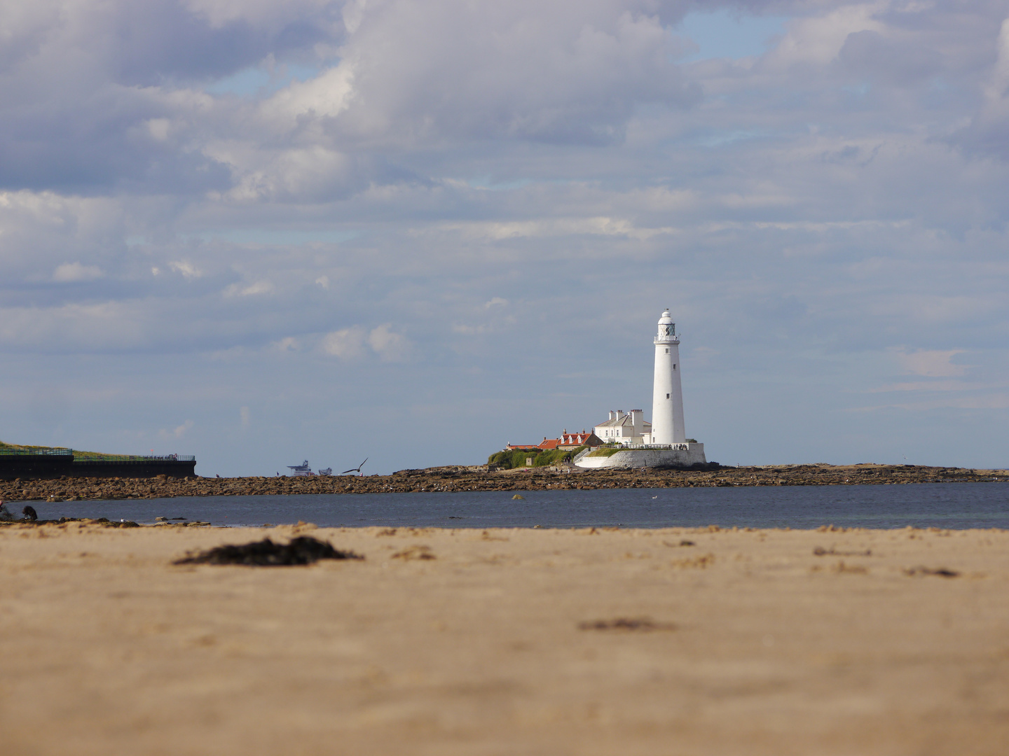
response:
<path fill-rule="evenodd" d="M 349 133 L 401 140 L 609 142 L 639 103 L 699 99 L 669 62 L 672 38 L 653 9 L 599 0 L 574 12 L 563 0 L 356 6 L 342 59 L 324 75 L 337 99 L 317 98 L 311 110 Z"/>

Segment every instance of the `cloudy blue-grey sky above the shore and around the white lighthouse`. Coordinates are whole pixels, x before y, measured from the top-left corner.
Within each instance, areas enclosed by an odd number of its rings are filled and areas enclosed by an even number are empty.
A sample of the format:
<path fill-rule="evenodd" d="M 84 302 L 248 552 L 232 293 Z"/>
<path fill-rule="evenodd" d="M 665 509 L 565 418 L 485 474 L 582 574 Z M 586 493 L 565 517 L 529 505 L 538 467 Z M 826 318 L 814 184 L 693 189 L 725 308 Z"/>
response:
<path fill-rule="evenodd" d="M 0 438 L 365 473 L 651 414 L 1009 466 L 1004 0 L 0 1 Z"/>

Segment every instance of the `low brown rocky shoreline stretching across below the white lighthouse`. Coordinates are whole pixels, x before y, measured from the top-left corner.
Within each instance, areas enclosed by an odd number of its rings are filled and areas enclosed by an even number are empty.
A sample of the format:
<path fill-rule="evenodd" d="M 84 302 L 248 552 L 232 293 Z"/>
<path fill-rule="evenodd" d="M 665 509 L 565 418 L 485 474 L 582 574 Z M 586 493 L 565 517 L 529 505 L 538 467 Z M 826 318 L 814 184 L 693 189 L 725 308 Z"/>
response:
<path fill-rule="evenodd" d="M 846 486 L 1009 482 L 1007 470 L 920 465 L 769 465 L 717 470 L 594 470 L 486 466 L 401 470 L 391 475 L 249 478 L 64 478 L 0 481 L 4 501 L 157 499 L 176 496 L 289 496 L 554 489 Z"/>

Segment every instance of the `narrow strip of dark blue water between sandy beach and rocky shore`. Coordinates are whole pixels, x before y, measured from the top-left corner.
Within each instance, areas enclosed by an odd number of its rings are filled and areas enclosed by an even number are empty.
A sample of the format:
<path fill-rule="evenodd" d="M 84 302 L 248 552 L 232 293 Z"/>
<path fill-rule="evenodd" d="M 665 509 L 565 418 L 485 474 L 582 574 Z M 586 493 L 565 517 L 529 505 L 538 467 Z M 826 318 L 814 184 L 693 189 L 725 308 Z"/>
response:
<path fill-rule="evenodd" d="M 311 496 L 208 496 L 136 501 L 33 502 L 38 516 L 153 522 L 186 517 L 215 525 L 437 527 L 999 527 L 1009 528 L 1009 485 L 608 489 Z"/>

